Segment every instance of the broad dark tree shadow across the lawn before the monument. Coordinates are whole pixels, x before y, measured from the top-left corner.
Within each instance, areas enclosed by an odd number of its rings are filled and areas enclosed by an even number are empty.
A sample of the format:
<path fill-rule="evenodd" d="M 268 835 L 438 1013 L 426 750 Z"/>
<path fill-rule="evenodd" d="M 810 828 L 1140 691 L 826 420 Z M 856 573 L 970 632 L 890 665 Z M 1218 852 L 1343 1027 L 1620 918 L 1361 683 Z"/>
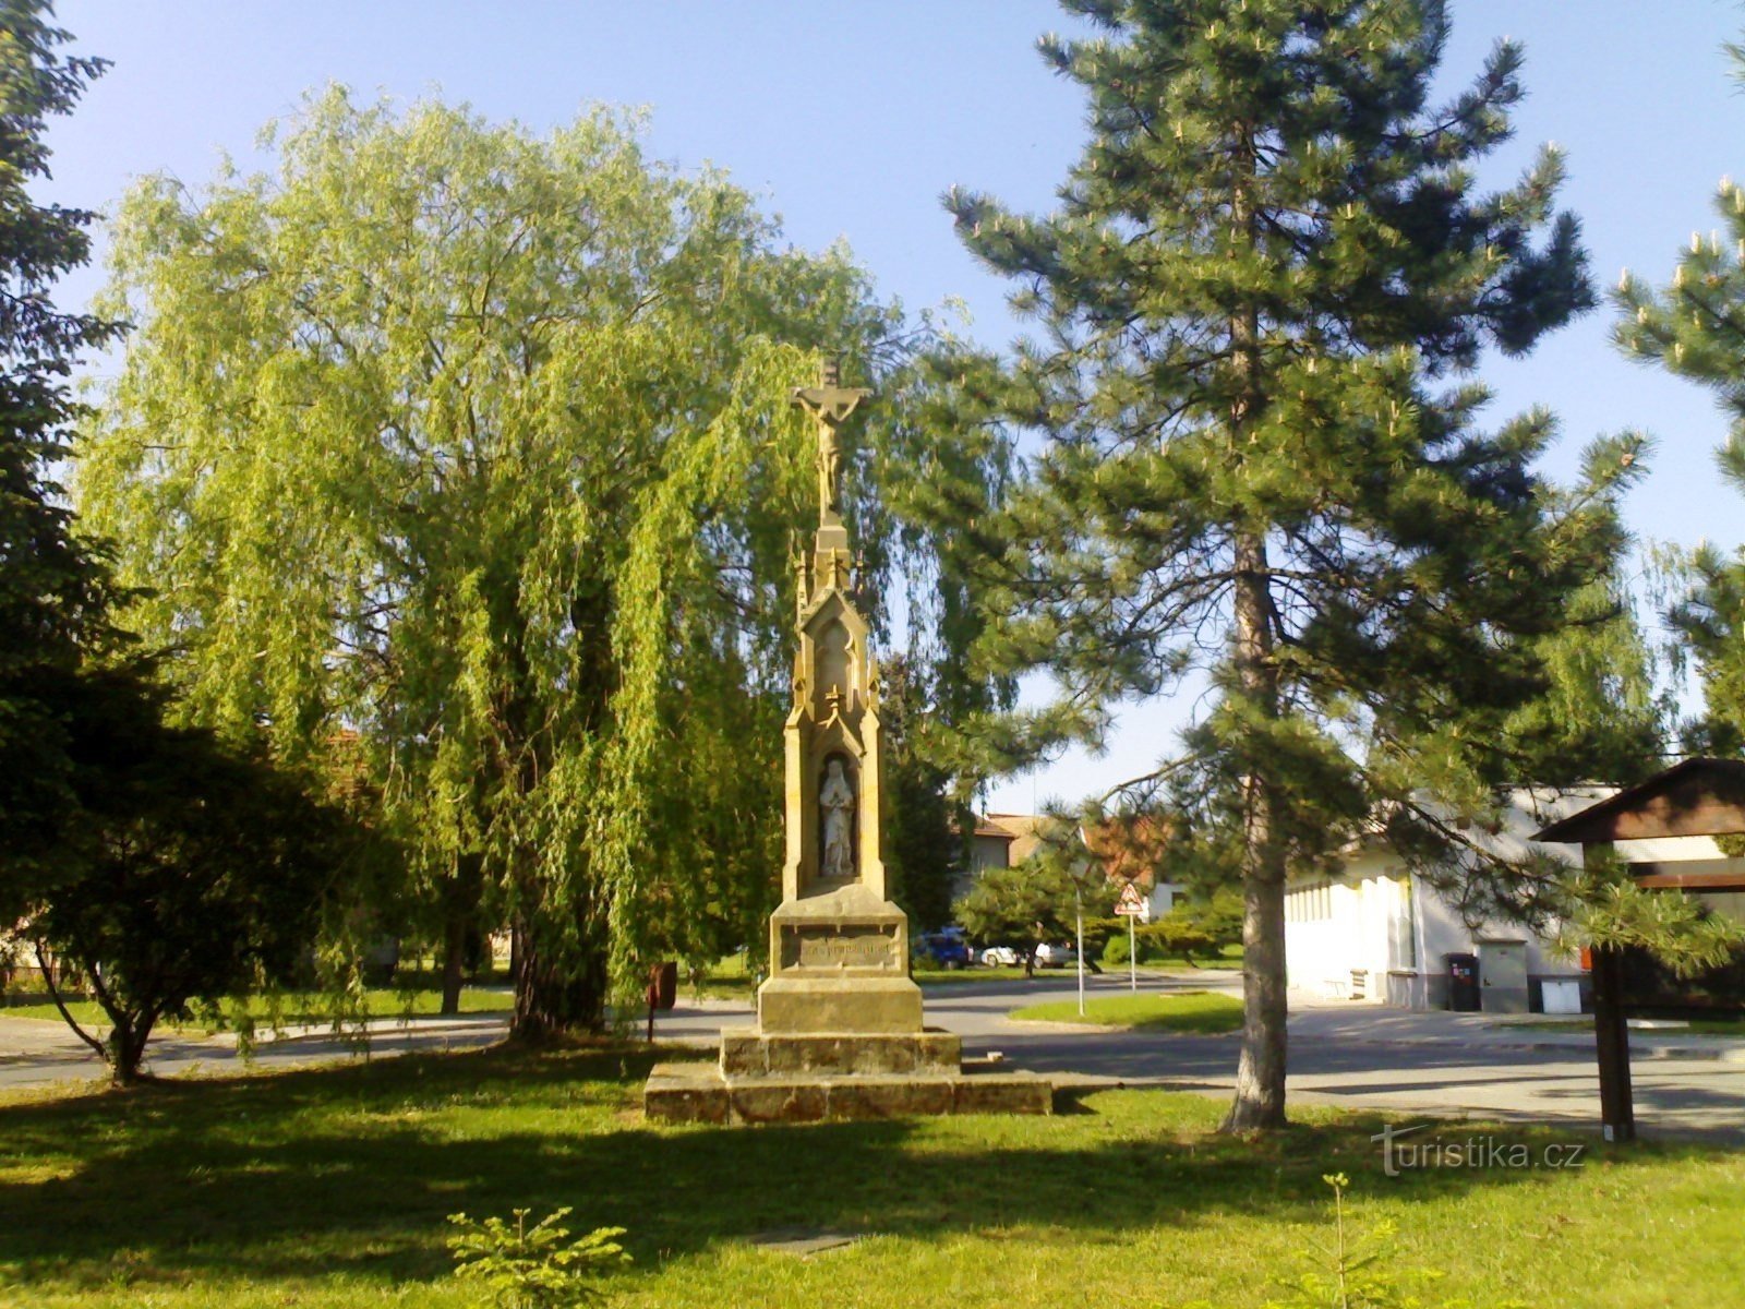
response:
<path fill-rule="evenodd" d="M 1106 1093 L 1052 1119 L 653 1127 L 637 1110 L 653 1058 L 492 1049 L 0 1107 L 0 1267 L 77 1283 L 120 1251 L 161 1279 L 435 1279 L 447 1215 L 565 1204 L 574 1230 L 628 1227 L 640 1264 L 794 1227 L 1113 1239 L 1232 1210 L 1321 1222 L 1321 1176 L 1379 1175 L 1368 1138 L 1387 1122 L 1309 1112 L 1241 1141 L 1206 1134 L 1222 1105 Z M 1677 1150 L 1698 1147 L 1661 1155 Z M 1525 1176 L 1427 1171 L 1389 1194 Z"/>

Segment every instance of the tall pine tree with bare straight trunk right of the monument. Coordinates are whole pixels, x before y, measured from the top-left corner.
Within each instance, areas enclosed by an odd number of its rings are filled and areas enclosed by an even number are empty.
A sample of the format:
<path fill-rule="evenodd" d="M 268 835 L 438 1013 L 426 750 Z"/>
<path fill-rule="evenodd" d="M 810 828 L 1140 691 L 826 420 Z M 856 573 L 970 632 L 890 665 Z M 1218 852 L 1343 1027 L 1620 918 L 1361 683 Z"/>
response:
<path fill-rule="evenodd" d="M 1591 304 L 1557 152 L 1497 194 L 1473 180 L 1522 96 L 1515 45 L 1433 106 L 1436 0 L 1066 7 L 1094 35 L 1042 42 L 1091 103 L 1059 209 L 946 197 L 1038 325 L 965 400 L 1044 438 L 988 531 L 986 653 L 1063 695 L 995 742 L 1094 740 L 1119 702 L 1211 670 L 1188 745 L 1232 787 L 1244 885 L 1225 1126 L 1272 1127 L 1288 867 L 1384 799 L 1487 803 L 1488 728 L 1543 688 L 1534 641 L 1621 546 L 1639 443 L 1597 445 L 1553 497 L 1532 471 L 1550 415 L 1473 426 L 1482 351 Z"/>

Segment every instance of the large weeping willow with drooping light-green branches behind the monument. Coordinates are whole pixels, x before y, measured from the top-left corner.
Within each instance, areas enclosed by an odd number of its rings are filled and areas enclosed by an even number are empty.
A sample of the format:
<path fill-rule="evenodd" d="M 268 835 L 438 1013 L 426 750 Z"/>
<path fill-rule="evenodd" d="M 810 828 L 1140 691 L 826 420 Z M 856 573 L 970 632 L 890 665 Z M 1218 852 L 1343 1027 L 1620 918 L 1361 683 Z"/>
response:
<path fill-rule="evenodd" d="M 136 332 L 82 508 L 192 716 L 368 775 L 450 983 L 483 906 L 517 1031 L 593 1025 L 771 894 L 813 485 L 787 396 L 818 351 L 921 386 L 899 312 L 607 112 L 534 138 L 333 89 L 267 141 L 270 175 L 124 201 L 105 309 Z M 866 440 L 918 485 L 900 412 Z M 925 576 L 902 487 L 852 494 L 893 543 L 869 572 Z"/>

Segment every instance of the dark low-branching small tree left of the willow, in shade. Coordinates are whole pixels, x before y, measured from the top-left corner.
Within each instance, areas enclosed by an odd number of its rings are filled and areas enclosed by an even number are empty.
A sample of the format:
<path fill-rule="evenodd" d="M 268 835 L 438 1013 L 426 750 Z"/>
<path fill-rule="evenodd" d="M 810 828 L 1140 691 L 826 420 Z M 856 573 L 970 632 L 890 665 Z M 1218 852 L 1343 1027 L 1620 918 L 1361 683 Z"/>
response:
<path fill-rule="evenodd" d="M 63 1016 L 126 1084 L 161 1018 L 291 979 L 354 836 L 258 756 L 164 726 L 161 696 L 127 679 L 75 723 L 105 744 L 80 806 L 84 859 L 17 930 L 89 986 L 108 1035 Z"/>

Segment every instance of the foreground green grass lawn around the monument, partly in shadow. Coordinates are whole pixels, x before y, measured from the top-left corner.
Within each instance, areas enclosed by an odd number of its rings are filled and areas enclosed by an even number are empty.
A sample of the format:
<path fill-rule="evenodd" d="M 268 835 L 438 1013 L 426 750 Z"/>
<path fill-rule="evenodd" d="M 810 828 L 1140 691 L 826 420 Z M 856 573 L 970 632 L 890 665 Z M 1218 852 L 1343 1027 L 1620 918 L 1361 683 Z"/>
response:
<path fill-rule="evenodd" d="M 670 1058 L 670 1056 L 668 1056 Z M 614 1304 L 1258 1309 L 1347 1220 L 1398 1227 L 1429 1304 L 1738 1304 L 1745 1155 L 1661 1145 L 1577 1171 L 1382 1175 L 1382 1119 L 1213 1134 L 1220 1100 L 1089 1096 L 1049 1119 L 653 1127 L 640 1049 L 513 1049 L 0 1105 L 0 1304 L 473 1306 L 445 1215 L 630 1229 Z M 1483 1131 L 1450 1126 L 1450 1140 Z M 1534 1154 L 1581 1140 L 1497 1129 Z M 1413 1138 L 1427 1140 L 1427 1134 Z M 836 1229 L 810 1258 L 759 1234 Z"/>

